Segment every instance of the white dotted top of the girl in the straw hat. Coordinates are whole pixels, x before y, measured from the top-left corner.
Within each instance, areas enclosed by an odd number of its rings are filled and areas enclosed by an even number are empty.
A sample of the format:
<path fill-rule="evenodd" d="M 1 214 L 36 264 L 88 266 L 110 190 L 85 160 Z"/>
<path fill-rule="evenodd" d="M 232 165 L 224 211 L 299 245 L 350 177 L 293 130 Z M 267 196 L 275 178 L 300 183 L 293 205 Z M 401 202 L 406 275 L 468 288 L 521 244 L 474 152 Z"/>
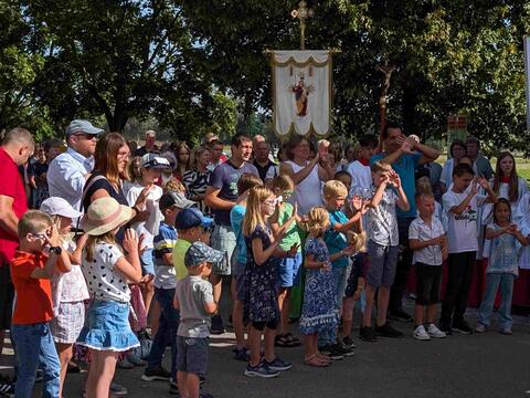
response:
<path fill-rule="evenodd" d="M 83 251 L 83 274 L 92 297 L 128 303 L 130 301 L 130 290 L 127 285 L 127 279 L 114 268 L 116 261 L 124 256 L 121 250 L 113 243 L 97 242 L 93 256 L 93 261 L 87 261 L 86 252 Z"/>

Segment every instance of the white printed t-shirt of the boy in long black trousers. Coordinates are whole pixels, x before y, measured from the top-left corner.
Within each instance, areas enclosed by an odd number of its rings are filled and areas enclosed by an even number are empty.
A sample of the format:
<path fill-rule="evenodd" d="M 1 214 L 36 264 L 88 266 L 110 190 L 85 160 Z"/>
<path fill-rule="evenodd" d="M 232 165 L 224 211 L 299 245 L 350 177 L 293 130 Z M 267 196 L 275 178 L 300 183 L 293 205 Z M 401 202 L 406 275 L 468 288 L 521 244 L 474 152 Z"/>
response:
<path fill-rule="evenodd" d="M 466 199 L 468 192 L 468 189 L 462 193 L 451 189 L 442 197 L 444 211 L 447 214 L 447 247 L 449 253 L 478 250 L 478 207 L 485 202 L 486 197 L 478 193 L 475 195 L 460 214 L 449 211 L 455 206 L 459 206 Z"/>

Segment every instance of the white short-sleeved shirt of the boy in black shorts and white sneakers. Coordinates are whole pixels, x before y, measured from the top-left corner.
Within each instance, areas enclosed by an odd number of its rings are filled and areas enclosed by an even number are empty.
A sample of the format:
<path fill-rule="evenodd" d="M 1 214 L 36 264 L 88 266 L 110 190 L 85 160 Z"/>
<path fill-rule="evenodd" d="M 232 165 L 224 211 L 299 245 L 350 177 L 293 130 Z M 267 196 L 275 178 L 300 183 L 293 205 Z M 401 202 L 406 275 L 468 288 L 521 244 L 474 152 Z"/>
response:
<path fill-rule="evenodd" d="M 417 239 L 421 242 L 443 235 L 444 228 L 437 217 L 433 217 L 431 226 L 421 217 L 414 219 L 409 227 L 409 239 Z M 412 263 L 421 262 L 427 265 L 442 265 L 442 248 L 439 245 L 430 245 L 422 250 L 414 250 Z"/>

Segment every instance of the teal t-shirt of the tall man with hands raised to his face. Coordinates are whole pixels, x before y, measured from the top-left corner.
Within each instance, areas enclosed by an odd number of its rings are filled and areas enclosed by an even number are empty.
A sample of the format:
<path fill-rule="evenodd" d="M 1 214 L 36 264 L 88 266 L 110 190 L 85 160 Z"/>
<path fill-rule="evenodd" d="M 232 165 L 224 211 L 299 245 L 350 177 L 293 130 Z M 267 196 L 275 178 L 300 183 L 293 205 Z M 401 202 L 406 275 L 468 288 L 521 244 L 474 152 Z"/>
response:
<path fill-rule="evenodd" d="M 386 154 L 378 154 L 371 157 L 370 165 L 378 160 L 384 159 Z M 409 205 L 411 206 L 409 211 L 402 211 L 400 208 L 395 209 L 398 218 L 416 218 L 416 201 L 414 195 L 416 195 L 416 180 L 415 171 L 422 154 L 403 154 L 401 157 L 392 164 L 392 168 L 401 178 L 401 185 L 405 192 Z"/>

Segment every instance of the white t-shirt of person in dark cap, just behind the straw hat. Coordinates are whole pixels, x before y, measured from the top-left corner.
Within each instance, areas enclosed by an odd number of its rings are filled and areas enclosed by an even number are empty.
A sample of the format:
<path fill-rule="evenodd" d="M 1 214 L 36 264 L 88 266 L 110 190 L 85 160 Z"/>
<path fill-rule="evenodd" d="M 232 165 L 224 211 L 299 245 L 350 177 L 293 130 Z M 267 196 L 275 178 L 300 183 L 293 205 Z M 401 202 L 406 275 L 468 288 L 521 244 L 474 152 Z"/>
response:
<path fill-rule="evenodd" d="M 144 190 L 144 188 L 145 187 L 140 186 L 138 182 L 130 182 L 124 186 L 125 196 L 130 207 L 135 206 L 136 200 L 140 196 L 140 192 Z M 150 211 L 149 218 L 147 221 L 136 222 L 132 226 L 136 230 L 136 233 L 138 233 L 138 237 L 144 234 L 142 243 L 147 249 L 152 249 L 152 240 L 160 228 L 162 213 L 158 208 L 158 201 L 160 200 L 162 193 L 162 188 L 159 186 L 152 186 L 152 189 L 149 191 L 146 200 L 146 209 Z"/>

